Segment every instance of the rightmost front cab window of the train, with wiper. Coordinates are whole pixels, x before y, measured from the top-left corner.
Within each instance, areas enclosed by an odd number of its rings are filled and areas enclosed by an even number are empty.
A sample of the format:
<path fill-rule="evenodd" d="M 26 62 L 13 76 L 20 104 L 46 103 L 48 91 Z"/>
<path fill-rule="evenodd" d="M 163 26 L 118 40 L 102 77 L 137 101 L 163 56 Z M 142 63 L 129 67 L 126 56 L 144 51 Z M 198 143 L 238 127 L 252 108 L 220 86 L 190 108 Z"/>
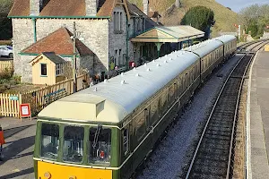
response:
<path fill-rule="evenodd" d="M 111 129 L 102 126 L 90 129 L 90 163 L 109 164 L 111 152 Z"/>

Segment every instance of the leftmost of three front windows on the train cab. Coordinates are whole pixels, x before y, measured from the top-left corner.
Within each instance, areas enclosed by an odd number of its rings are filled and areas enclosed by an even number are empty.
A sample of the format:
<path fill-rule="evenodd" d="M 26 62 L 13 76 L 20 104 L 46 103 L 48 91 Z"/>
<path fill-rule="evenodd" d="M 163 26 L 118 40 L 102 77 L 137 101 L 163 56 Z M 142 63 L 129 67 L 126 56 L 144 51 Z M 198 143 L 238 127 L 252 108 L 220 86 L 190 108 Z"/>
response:
<path fill-rule="evenodd" d="M 59 149 L 59 125 L 42 124 L 41 126 L 41 158 L 56 159 Z"/>

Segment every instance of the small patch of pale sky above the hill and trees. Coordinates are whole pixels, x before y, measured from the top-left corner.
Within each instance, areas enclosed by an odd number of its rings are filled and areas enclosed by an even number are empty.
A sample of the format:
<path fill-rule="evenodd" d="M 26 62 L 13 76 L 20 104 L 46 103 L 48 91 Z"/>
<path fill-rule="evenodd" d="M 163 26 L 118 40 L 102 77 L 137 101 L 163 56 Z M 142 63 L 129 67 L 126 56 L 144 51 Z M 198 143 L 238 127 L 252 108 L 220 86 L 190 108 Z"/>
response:
<path fill-rule="evenodd" d="M 269 0 L 215 0 L 219 4 L 230 7 L 230 9 L 236 13 L 242 8 L 248 7 L 252 4 L 269 4 Z"/>

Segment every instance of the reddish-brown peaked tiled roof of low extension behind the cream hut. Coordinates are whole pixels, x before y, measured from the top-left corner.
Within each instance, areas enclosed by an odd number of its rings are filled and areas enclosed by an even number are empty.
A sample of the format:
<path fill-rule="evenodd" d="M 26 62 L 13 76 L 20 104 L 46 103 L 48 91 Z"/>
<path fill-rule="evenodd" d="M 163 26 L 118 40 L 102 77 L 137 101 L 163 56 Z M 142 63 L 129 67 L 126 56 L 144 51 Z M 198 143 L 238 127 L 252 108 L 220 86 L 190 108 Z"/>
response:
<path fill-rule="evenodd" d="M 73 55 L 73 36 L 66 28 L 60 28 L 45 38 L 39 39 L 36 43 L 32 44 L 22 50 L 22 53 L 41 54 L 43 52 L 55 52 L 58 55 Z M 80 55 L 91 55 L 93 52 L 86 47 L 82 41 L 76 39 L 76 49 Z"/>

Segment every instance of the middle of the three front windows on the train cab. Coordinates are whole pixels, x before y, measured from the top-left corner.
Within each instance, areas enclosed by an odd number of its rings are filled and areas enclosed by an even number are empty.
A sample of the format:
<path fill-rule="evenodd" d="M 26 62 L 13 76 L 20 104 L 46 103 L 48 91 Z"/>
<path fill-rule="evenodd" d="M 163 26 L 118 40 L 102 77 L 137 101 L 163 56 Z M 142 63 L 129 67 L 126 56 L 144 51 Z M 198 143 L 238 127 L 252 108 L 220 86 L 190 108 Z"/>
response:
<path fill-rule="evenodd" d="M 81 163 L 83 155 L 84 128 L 65 126 L 64 131 L 64 161 Z"/>

